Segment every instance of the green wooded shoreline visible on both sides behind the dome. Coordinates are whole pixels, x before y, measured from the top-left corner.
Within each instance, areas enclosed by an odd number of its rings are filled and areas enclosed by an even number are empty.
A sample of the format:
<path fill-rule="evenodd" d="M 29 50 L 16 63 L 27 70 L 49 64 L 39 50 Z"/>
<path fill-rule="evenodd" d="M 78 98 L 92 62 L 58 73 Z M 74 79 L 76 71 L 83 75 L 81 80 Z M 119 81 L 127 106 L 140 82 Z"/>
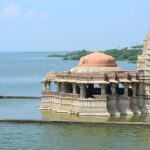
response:
<path fill-rule="evenodd" d="M 136 63 L 137 57 L 142 53 L 143 45 L 135 45 L 131 48 L 125 47 L 123 49 L 108 49 L 102 51 L 105 54 L 113 56 L 116 60 L 127 60 L 132 63 Z M 79 60 L 81 57 L 92 53 L 93 51 L 77 50 L 73 52 L 63 53 L 63 54 L 51 54 L 48 57 L 62 57 L 64 60 Z"/>

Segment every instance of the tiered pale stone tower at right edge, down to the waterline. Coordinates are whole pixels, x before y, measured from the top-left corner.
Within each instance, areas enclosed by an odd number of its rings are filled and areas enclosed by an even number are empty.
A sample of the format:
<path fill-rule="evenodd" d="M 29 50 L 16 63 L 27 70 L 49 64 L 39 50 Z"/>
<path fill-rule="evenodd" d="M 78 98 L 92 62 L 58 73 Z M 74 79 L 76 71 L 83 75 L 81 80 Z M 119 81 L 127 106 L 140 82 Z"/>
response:
<path fill-rule="evenodd" d="M 142 114 L 150 114 L 150 30 L 144 41 L 143 53 L 137 63 L 139 91 L 138 104 Z"/>

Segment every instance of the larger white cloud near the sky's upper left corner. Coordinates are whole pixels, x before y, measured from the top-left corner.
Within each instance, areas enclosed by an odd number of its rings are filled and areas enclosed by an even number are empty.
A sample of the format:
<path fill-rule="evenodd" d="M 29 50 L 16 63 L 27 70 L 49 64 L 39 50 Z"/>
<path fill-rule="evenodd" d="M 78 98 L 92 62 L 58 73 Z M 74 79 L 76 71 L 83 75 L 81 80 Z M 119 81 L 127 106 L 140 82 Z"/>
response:
<path fill-rule="evenodd" d="M 10 4 L 4 7 L 0 11 L 0 16 L 2 18 L 16 18 L 20 15 L 21 13 L 21 7 L 18 4 Z"/>

